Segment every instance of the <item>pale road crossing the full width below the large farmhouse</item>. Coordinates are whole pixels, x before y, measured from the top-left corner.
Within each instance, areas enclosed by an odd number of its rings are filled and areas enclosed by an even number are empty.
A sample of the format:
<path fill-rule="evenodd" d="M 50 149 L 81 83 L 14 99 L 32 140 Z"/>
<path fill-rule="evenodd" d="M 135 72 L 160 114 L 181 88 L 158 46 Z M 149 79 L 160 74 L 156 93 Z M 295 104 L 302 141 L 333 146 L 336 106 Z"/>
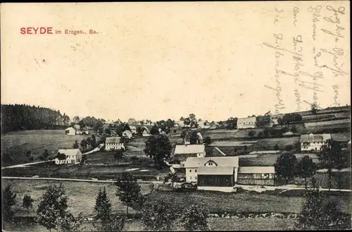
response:
<path fill-rule="evenodd" d="M 99 180 L 88 180 L 88 179 L 73 179 L 73 178 L 32 178 L 32 177 L 14 177 L 14 176 L 1 176 L 2 179 L 14 179 L 14 180 L 41 180 L 41 181 L 77 181 L 77 182 L 93 182 L 93 183 L 114 183 L 115 181 L 99 181 Z M 162 184 L 163 181 L 137 181 L 137 183 L 154 183 L 154 184 Z M 253 185 L 236 185 L 238 187 L 242 187 L 246 190 L 255 190 L 255 189 L 263 189 L 263 190 L 305 190 L 304 187 L 298 187 L 294 185 L 284 185 L 284 186 L 264 186 L 264 188 L 260 188 L 260 186 Z M 329 191 L 328 188 L 320 188 L 321 191 Z M 351 192 L 350 189 L 330 189 L 332 192 Z"/>

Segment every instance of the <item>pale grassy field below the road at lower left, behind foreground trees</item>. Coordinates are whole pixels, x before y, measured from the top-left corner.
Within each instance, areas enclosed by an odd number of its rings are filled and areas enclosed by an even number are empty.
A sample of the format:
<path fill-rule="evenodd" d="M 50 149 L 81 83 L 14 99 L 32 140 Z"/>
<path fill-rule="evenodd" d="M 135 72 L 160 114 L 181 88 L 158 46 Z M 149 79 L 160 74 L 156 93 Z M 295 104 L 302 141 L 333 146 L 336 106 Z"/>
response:
<path fill-rule="evenodd" d="M 106 187 L 108 197 L 113 204 L 113 212 L 126 212 L 126 207 L 118 197 L 115 196 L 116 187 L 112 183 L 85 183 L 85 182 L 70 182 L 70 181 L 36 181 L 36 180 L 8 180 L 3 179 L 1 188 L 4 188 L 8 183 L 11 183 L 14 192 L 17 194 L 15 212 L 17 216 L 31 216 L 35 214 L 39 197 L 41 197 L 49 185 L 63 183 L 65 193 L 68 196 L 68 205 L 70 212 L 74 215 L 82 212 L 84 216 L 94 216 L 95 197 L 99 192 L 99 188 Z M 142 193 L 149 193 L 150 184 L 141 184 Z M 30 211 L 23 209 L 22 200 L 24 195 L 30 195 L 34 199 L 34 207 Z M 129 210 L 130 211 L 130 210 Z M 133 210 L 131 209 L 131 213 Z"/>

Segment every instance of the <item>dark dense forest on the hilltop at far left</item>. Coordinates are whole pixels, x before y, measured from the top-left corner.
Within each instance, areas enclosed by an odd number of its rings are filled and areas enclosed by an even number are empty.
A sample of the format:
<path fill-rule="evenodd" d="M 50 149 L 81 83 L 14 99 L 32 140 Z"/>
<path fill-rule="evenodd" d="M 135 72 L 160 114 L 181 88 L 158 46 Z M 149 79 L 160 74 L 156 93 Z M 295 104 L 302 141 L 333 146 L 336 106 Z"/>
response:
<path fill-rule="evenodd" d="M 27 104 L 1 104 L 1 134 L 15 130 L 65 128 L 70 117 L 55 109 Z"/>

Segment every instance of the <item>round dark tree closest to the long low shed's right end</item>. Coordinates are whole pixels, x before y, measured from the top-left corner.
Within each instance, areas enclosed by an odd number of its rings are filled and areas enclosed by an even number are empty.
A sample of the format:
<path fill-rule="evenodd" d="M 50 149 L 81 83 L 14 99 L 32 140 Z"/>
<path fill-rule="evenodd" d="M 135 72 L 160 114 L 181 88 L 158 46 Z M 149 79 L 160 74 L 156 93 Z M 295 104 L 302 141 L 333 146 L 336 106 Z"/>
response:
<path fill-rule="evenodd" d="M 297 158 L 289 152 L 282 153 L 275 161 L 275 172 L 277 176 L 284 178 L 285 183 L 289 183 L 289 178 L 296 175 Z"/>

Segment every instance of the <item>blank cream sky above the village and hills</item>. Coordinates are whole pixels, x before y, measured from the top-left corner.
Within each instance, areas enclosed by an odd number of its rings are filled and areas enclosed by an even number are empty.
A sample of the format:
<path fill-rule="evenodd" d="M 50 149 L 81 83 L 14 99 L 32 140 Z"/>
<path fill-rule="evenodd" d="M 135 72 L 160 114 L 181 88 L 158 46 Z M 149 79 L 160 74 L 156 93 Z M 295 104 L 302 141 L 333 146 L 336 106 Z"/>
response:
<path fill-rule="evenodd" d="M 122 121 L 350 104 L 348 4 L 1 4 L 1 104 Z"/>

